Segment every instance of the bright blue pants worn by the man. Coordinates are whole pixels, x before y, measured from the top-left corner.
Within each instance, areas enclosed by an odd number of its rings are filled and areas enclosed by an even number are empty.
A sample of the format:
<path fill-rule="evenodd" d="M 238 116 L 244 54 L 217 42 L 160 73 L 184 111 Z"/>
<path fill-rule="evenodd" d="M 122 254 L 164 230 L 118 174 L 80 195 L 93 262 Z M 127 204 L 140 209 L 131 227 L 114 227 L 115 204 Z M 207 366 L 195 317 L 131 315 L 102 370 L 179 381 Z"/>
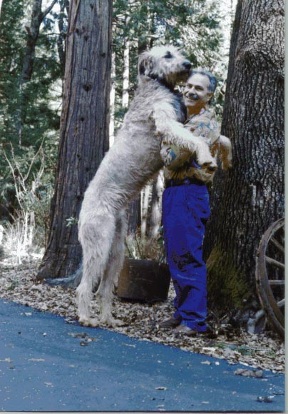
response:
<path fill-rule="evenodd" d="M 207 272 L 202 259 L 205 223 L 210 216 L 206 186 L 168 187 L 163 193 L 165 251 L 176 297 L 174 318 L 207 330 Z"/>

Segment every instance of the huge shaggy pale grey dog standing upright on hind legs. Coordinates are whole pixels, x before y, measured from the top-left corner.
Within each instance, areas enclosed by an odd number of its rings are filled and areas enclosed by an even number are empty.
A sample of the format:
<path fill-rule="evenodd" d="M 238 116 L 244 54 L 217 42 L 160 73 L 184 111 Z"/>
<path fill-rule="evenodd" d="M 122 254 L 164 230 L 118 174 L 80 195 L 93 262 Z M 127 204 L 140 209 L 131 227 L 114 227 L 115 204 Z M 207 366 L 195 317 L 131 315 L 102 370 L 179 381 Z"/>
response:
<path fill-rule="evenodd" d="M 83 248 L 83 276 L 77 288 L 82 325 L 120 325 L 111 313 L 113 285 L 123 267 L 125 207 L 140 188 L 163 167 L 161 140 L 196 153 L 198 163 L 212 164 L 209 148 L 182 123 L 185 112 L 173 93 L 185 81 L 191 64 L 172 46 L 154 47 L 138 61 L 138 89 L 115 143 L 103 158 L 84 195 L 78 236 Z M 101 309 L 90 317 L 93 288 Z"/>

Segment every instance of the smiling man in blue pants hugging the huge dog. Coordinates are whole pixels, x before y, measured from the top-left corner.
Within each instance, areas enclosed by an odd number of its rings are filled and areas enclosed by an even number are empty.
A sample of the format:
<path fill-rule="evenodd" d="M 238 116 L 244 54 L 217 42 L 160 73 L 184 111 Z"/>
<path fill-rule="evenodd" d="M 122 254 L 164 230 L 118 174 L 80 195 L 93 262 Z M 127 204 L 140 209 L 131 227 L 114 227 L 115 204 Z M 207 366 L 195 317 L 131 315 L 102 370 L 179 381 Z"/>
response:
<path fill-rule="evenodd" d="M 187 108 L 185 126 L 205 139 L 216 158 L 220 131 L 208 108 L 215 89 L 215 76 L 202 69 L 193 70 L 183 91 L 183 100 Z M 229 159 L 224 163 L 230 166 L 230 141 L 222 138 L 228 144 Z M 175 146 L 163 146 L 161 156 L 165 163 L 165 250 L 176 296 L 173 318 L 160 323 L 160 327 L 195 336 L 207 331 L 207 272 L 202 243 L 210 216 L 207 184 L 212 182 L 217 167 L 202 169 L 189 151 Z"/>

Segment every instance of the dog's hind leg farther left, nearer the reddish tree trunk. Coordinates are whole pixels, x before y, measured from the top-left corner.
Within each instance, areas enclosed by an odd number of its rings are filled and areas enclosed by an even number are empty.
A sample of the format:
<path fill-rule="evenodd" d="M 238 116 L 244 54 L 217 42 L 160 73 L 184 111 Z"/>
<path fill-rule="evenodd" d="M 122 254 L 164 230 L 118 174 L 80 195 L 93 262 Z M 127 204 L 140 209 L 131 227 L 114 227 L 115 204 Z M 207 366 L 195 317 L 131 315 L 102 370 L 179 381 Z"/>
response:
<path fill-rule="evenodd" d="M 93 288 L 104 277 L 114 235 L 115 218 L 113 216 L 93 216 L 79 228 L 79 240 L 83 249 L 83 276 L 76 293 L 81 325 L 99 325 L 98 319 L 90 317 L 90 302 L 93 297 Z"/>

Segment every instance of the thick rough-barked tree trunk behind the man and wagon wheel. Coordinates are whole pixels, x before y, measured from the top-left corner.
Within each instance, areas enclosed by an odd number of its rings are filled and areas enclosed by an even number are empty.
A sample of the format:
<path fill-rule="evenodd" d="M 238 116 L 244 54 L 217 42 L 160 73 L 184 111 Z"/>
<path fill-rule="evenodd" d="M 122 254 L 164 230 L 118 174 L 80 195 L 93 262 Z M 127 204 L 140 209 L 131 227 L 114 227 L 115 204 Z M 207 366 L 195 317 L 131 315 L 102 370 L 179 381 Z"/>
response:
<path fill-rule="evenodd" d="M 284 6 L 240 0 L 230 48 L 222 133 L 233 168 L 217 173 L 205 251 L 208 298 L 241 307 L 254 298 L 257 247 L 284 214 Z"/>

